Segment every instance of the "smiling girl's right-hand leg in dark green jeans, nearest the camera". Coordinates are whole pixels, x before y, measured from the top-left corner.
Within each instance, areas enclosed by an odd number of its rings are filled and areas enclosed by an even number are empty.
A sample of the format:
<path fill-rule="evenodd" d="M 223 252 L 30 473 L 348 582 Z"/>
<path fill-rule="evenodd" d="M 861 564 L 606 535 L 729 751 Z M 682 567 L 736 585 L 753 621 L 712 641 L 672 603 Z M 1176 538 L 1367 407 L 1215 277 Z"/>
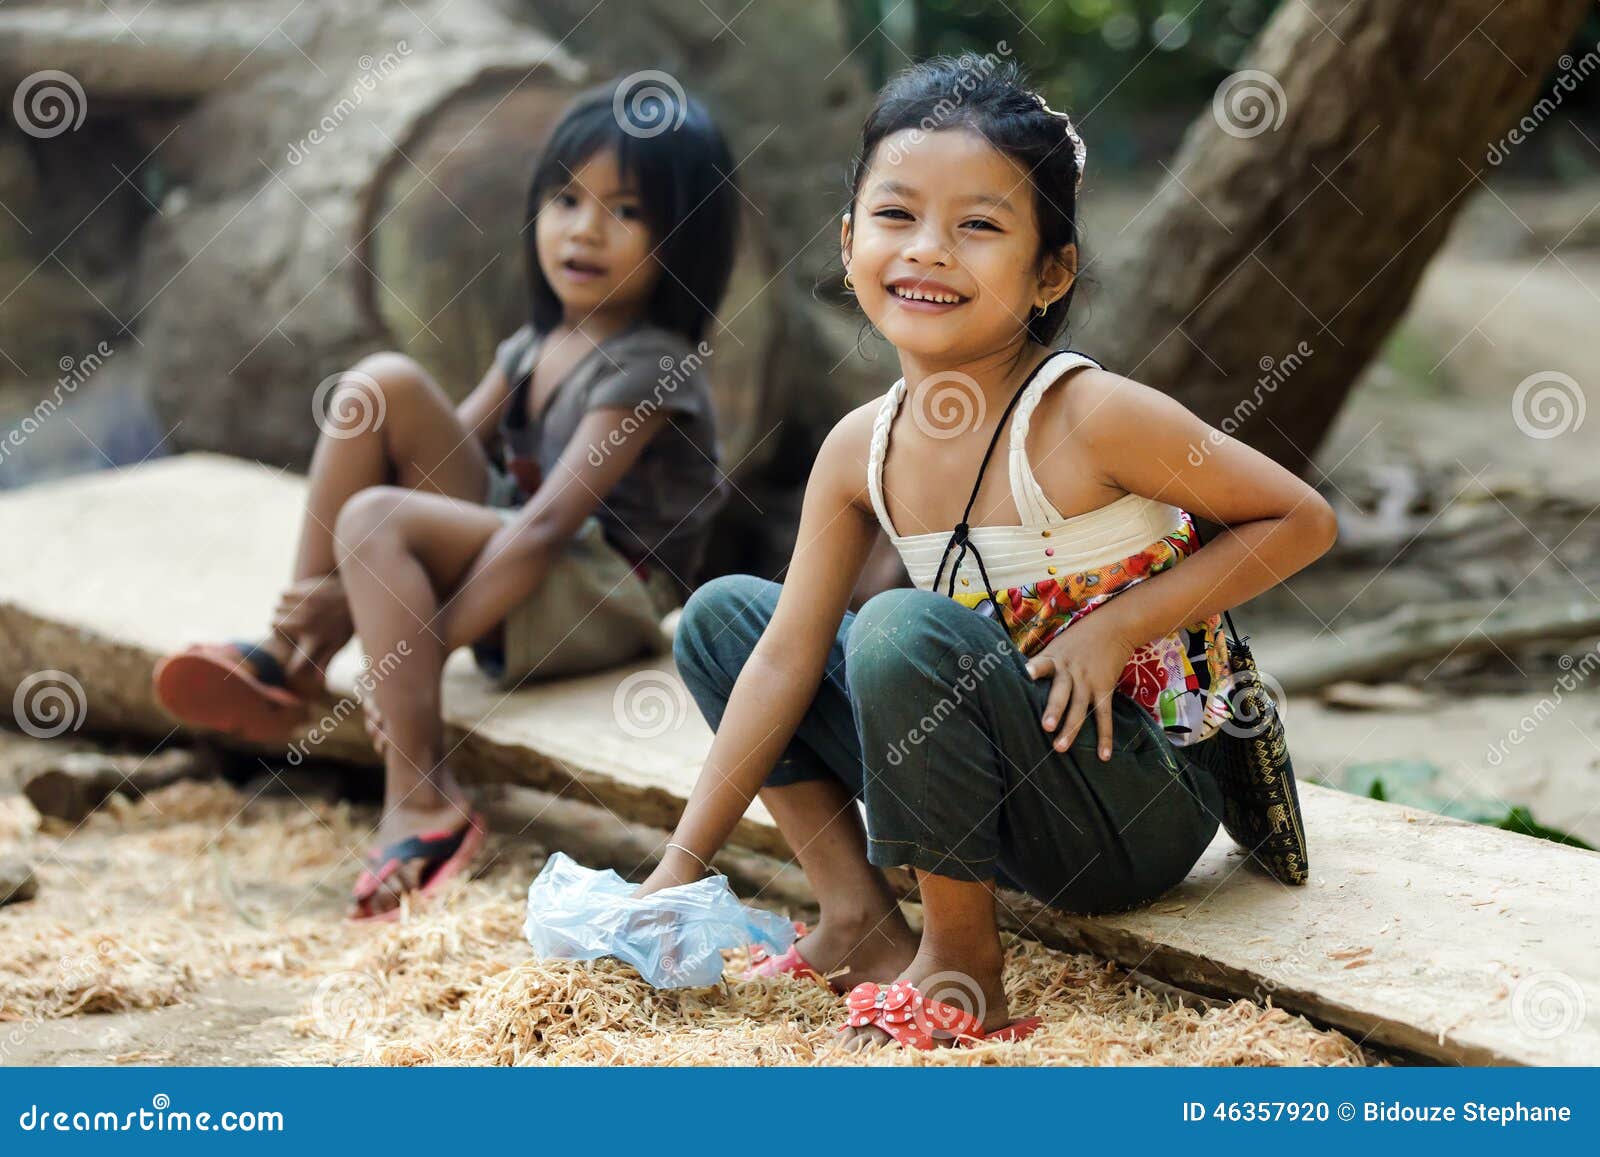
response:
<path fill-rule="evenodd" d="M 917 869 L 923 938 L 902 973 L 926 997 L 1008 1021 L 994 882 L 1078 912 L 1154 899 L 1216 832 L 1221 794 L 1155 722 L 1114 699 L 1112 759 L 1093 717 L 1054 751 L 1048 682 L 1005 629 L 926 591 L 880 594 L 846 640 L 866 760 L 869 859 Z M 877 1029 L 858 1039 L 885 1039 Z"/>

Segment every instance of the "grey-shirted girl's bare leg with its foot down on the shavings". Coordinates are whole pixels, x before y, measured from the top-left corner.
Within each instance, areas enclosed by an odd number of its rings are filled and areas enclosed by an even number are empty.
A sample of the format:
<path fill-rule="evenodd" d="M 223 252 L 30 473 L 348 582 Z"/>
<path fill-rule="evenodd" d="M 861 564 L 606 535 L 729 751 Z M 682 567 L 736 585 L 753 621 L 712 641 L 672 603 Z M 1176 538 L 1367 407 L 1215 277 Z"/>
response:
<path fill-rule="evenodd" d="M 466 795 L 445 752 L 440 675 L 448 653 L 435 616 L 440 592 L 461 583 L 502 525 L 482 506 L 395 486 L 365 490 L 339 512 L 336 562 L 371 658 L 370 695 L 389 739 L 379 847 L 458 829 L 467 819 Z M 421 871 L 421 861 L 405 864 L 373 911 L 398 903 Z"/>

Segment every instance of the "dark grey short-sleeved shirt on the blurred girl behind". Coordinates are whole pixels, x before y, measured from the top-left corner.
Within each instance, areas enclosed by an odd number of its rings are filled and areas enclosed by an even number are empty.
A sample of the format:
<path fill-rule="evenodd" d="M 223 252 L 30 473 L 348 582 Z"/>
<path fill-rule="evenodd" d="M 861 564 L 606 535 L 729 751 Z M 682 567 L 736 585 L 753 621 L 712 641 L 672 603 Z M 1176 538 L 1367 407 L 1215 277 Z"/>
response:
<path fill-rule="evenodd" d="M 546 398 L 544 413 L 531 414 L 539 342 L 533 326 L 525 325 L 494 355 L 512 387 L 499 443 L 502 467 L 518 480 L 517 502 L 549 477 L 590 410 L 632 411 L 622 419 L 618 443 L 590 446 L 590 459 L 614 453 L 637 422 L 666 410 L 669 422 L 602 496 L 595 517 L 622 555 L 667 570 L 686 594 L 696 583 L 710 522 L 728 498 L 715 408 L 701 370 L 709 355 L 706 344 L 696 349 L 653 325 L 624 330 L 584 355 Z"/>

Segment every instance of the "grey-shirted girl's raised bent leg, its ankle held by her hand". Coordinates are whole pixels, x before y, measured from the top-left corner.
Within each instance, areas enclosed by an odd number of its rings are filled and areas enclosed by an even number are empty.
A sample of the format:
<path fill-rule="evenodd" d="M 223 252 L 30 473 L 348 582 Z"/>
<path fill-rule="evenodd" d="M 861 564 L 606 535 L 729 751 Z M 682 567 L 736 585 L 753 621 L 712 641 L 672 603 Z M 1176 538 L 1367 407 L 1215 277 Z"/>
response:
<path fill-rule="evenodd" d="M 334 523 L 360 490 L 394 483 L 483 501 L 488 488 L 483 446 L 461 426 L 445 390 L 403 354 L 374 354 L 346 371 L 320 426 L 294 554 L 296 584 L 334 576 Z M 290 685 L 302 693 L 322 688 L 325 667 L 354 629 L 338 586 L 334 576 L 320 595 L 291 595 L 291 607 L 309 602 L 304 610 L 314 608 L 291 618 L 310 621 L 283 629 L 278 616 L 264 643 L 283 663 Z"/>

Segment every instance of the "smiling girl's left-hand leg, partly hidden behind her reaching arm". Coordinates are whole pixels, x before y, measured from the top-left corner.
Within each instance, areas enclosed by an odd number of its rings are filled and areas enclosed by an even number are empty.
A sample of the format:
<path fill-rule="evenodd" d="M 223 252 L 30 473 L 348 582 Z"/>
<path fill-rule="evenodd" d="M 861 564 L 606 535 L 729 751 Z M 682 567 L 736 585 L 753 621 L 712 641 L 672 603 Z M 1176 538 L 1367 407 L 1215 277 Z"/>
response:
<path fill-rule="evenodd" d="M 714 730 L 744 661 L 771 621 L 779 591 L 766 579 L 728 574 L 701 586 L 683 607 L 674 659 Z M 842 973 L 842 983 L 893 978 L 917 943 L 883 872 L 867 863 L 856 805 L 861 744 L 843 679 L 843 637 L 851 619 L 845 616 L 794 744 L 762 789 L 762 803 L 794 848 L 822 909 L 818 927 L 800 941 L 800 952 L 824 975 Z"/>

